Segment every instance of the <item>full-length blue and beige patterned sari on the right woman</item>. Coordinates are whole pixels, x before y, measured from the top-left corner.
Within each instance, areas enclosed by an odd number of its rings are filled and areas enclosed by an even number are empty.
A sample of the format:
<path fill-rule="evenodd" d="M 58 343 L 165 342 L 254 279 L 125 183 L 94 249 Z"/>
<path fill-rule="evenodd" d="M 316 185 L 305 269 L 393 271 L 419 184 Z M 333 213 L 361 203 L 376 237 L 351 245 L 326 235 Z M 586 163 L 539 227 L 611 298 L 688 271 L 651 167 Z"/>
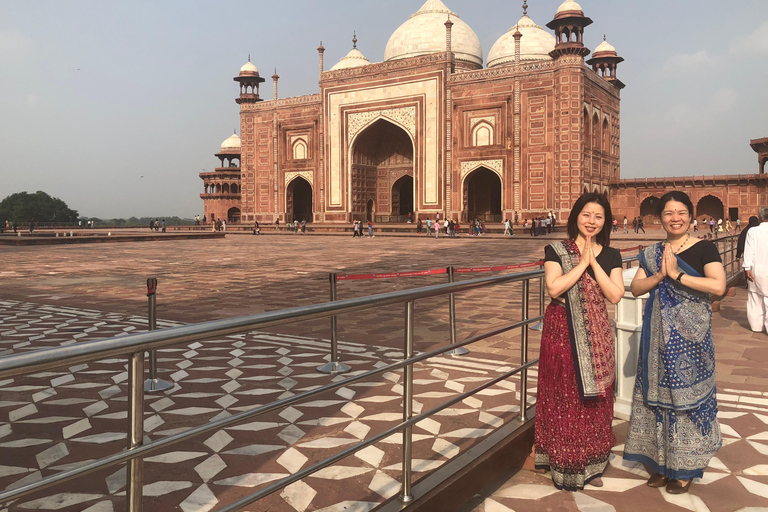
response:
<path fill-rule="evenodd" d="M 663 254 L 662 243 L 640 253 L 647 276 L 659 272 Z M 679 257 L 677 264 L 701 277 Z M 688 480 L 703 475 L 721 445 L 711 298 L 666 278 L 645 304 L 624 459 Z"/>

